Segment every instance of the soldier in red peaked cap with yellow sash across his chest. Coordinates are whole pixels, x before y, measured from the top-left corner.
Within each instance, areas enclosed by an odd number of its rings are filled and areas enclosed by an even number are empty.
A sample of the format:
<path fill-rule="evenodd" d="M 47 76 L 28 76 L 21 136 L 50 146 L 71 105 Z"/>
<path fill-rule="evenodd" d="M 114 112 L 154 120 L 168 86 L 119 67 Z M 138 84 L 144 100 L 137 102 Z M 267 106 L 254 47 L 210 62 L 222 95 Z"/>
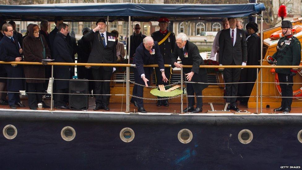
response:
<path fill-rule="evenodd" d="M 170 56 L 174 51 L 175 47 L 175 34 L 172 33 L 171 31 L 167 30 L 169 20 L 165 17 L 161 17 L 158 20 L 159 24 L 158 26 L 160 27 L 159 31 L 156 31 L 151 34 L 151 37 L 153 38 L 154 41 L 158 42 L 162 57 L 164 59 L 164 64 L 170 64 Z M 168 82 L 163 82 L 162 81 L 162 72 L 159 71 L 159 68 L 155 68 L 155 76 L 156 76 L 156 85 L 169 85 L 170 84 L 170 77 L 171 77 L 171 68 L 166 67 L 165 70 L 165 75 L 167 79 L 169 80 Z M 160 98 L 160 97 L 157 97 Z M 168 100 L 158 100 L 157 101 L 157 106 L 169 106 Z"/>

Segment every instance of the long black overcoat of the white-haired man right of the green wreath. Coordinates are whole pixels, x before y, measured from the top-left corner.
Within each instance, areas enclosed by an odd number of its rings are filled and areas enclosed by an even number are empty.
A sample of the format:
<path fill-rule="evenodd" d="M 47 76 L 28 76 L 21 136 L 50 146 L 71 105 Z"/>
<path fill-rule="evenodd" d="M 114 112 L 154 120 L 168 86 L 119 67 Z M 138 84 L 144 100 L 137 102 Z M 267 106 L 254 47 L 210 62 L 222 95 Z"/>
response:
<path fill-rule="evenodd" d="M 208 73 L 205 68 L 199 68 L 200 65 L 205 65 L 202 57 L 199 54 L 198 47 L 190 41 L 187 41 L 185 49 L 188 51 L 188 57 L 184 56 L 184 52 L 181 48 L 175 44 L 174 52 L 171 55 L 171 66 L 175 67 L 174 63 L 177 62 L 179 57 L 183 65 L 192 65 L 192 68 L 183 68 L 185 74 L 189 72 L 194 72 L 191 79 L 192 82 L 203 82 L 208 83 Z M 185 75 L 184 75 L 185 76 Z M 208 84 L 195 84 L 198 90 L 203 90 L 208 87 Z"/>

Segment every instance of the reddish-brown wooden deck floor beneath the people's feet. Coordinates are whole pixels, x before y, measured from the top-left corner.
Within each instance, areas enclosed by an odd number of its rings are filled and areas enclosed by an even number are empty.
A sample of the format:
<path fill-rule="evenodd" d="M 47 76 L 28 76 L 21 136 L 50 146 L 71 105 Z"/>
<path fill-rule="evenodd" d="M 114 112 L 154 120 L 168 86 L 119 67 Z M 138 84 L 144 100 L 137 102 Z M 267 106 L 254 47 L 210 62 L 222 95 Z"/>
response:
<path fill-rule="evenodd" d="M 94 101 L 95 101 L 94 98 L 89 97 L 88 111 L 93 111 L 93 108 L 95 106 Z M 17 109 L 28 109 L 29 110 L 28 100 L 26 98 L 23 98 L 21 100 L 21 102 L 23 104 L 25 104 L 26 107 L 17 107 Z M 44 99 L 44 102 L 50 106 L 50 99 Z M 203 109 L 202 113 L 206 113 L 208 110 L 211 110 L 211 107 L 208 103 L 204 103 L 203 105 L 204 106 L 202 107 L 202 109 Z M 218 110 L 223 110 L 225 105 L 224 104 L 213 104 L 213 106 L 214 106 L 214 109 L 218 111 Z M 183 108 L 186 108 L 186 107 L 187 107 L 187 103 L 184 103 Z M 248 108 L 247 106 L 241 105 L 239 102 L 237 103 L 237 107 L 242 111 L 247 110 L 251 113 L 256 112 L 256 108 Z M 0 105 L 0 108 L 1 109 L 9 109 L 9 106 Z M 122 103 L 110 103 L 109 108 L 110 108 L 110 111 L 124 112 L 126 110 L 126 99 L 123 100 L 123 104 Z M 160 113 L 174 113 L 174 112 L 179 113 L 180 112 L 180 104 L 175 104 L 175 103 L 171 103 L 169 105 L 169 107 L 164 107 L 164 106 L 157 107 L 155 102 L 154 103 L 145 103 L 144 108 L 148 112 L 160 112 Z M 264 107 L 263 108 L 263 113 L 272 113 L 273 109 L 274 108 L 265 108 Z M 68 109 L 67 110 L 65 110 L 65 109 L 54 109 L 54 110 L 67 111 Z M 301 113 L 301 110 L 302 110 L 301 107 L 292 107 L 290 113 Z M 99 110 L 99 111 L 104 111 L 104 110 Z M 137 112 L 137 108 L 132 103 L 130 103 L 130 111 L 131 112 L 133 112 L 133 111 Z M 260 112 L 260 107 L 258 108 L 258 111 Z M 232 113 L 235 113 L 235 111 L 232 111 Z M 273 113 L 274 113 L 274 111 L 273 111 Z M 277 113 L 282 113 L 282 112 L 277 112 Z"/>

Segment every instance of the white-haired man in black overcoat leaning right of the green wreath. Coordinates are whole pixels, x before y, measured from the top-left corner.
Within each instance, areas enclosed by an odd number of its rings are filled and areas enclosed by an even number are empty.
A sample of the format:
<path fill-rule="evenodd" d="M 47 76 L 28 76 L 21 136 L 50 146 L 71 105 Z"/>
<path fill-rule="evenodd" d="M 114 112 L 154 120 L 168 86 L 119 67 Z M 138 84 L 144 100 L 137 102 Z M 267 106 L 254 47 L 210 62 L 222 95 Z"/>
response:
<path fill-rule="evenodd" d="M 174 52 L 171 55 L 172 68 L 181 68 L 182 64 L 177 63 L 178 57 L 183 65 L 192 65 L 192 68 L 183 68 L 186 76 L 186 81 L 208 83 L 208 74 L 205 68 L 199 68 L 200 65 L 205 65 L 199 54 L 198 47 L 188 41 L 188 37 L 184 33 L 179 33 L 176 36 L 176 45 Z M 208 84 L 186 83 L 187 94 L 189 96 L 202 96 L 202 90 L 208 87 Z M 196 97 L 196 108 L 194 97 L 188 97 L 189 106 L 183 112 L 199 113 L 202 112 L 202 97 Z"/>

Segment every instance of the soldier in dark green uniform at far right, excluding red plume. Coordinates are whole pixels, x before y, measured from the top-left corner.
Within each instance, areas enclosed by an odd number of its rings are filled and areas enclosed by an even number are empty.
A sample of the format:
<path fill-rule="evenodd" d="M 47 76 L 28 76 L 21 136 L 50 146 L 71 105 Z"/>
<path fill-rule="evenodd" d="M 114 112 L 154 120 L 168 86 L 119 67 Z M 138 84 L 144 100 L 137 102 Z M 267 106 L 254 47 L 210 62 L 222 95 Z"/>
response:
<path fill-rule="evenodd" d="M 301 61 L 300 41 L 292 35 L 291 21 L 282 21 L 281 25 L 284 37 L 278 41 L 277 52 L 275 52 L 273 56 L 268 57 L 268 63 L 278 66 L 299 66 Z M 274 109 L 274 111 L 289 113 L 291 111 L 293 96 L 293 76 L 296 75 L 297 70 L 276 68 L 275 72 L 278 74 L 282 97 L 291 98 L 282 98 L 281 107 Z"/>

